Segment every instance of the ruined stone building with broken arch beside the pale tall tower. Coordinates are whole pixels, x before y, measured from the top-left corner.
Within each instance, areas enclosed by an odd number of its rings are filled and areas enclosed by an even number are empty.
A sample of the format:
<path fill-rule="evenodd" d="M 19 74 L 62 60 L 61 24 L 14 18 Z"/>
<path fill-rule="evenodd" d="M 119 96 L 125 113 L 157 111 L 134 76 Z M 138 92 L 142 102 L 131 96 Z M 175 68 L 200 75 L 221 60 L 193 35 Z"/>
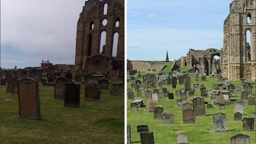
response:
<path fill-rule="evenodd" d="M 214 56 L 220 56 L 220 50 L 213 48 L 206 50 L 189 49 L 187 56 L 181 57 L 176 62 L 179 67 L 196 67 L 200 73 L 206 70 L 206 75 L 212 75 L 212 72 L 220 72 L 220 61 L 215 61 Z"/>

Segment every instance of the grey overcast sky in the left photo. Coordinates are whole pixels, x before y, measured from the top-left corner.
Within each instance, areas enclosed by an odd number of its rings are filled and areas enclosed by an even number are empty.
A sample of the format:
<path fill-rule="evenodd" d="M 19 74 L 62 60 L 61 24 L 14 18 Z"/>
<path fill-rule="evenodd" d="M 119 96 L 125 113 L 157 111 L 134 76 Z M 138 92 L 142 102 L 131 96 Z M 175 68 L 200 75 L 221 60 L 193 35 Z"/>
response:
<path fill-rule="evenodd" d="M 85 0 L 1 0 L 1 68 L 74 64 Z"/>

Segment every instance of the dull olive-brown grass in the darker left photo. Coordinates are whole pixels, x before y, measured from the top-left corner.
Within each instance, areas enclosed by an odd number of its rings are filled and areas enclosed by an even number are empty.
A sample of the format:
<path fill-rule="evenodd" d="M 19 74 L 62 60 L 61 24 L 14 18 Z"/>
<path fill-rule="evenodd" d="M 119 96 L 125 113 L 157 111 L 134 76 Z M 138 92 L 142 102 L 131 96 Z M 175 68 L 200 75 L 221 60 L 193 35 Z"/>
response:
<path fill-rule="evenodd" d="M 5 91 L 1 85 L 0 143 L 124 143 L 124 96 L 110 96 L 110 87 L 99 102 L 84 101 L 81 90 L 80 108 L 72 108 L 39 84 L 41 120 L 19 118 L 18 96 Z"/>

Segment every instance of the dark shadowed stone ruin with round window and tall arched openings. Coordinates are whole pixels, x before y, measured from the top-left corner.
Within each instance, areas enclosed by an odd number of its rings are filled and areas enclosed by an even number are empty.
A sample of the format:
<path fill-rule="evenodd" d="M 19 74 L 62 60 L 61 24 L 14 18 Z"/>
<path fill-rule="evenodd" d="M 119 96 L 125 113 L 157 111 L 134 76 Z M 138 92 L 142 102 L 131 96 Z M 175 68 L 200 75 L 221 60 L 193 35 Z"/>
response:
<path fill-rule="evenodd" d="M 85 2 L 77 22 L 75 69 L 89 74 L 124 71 L 124 0 Z"/>

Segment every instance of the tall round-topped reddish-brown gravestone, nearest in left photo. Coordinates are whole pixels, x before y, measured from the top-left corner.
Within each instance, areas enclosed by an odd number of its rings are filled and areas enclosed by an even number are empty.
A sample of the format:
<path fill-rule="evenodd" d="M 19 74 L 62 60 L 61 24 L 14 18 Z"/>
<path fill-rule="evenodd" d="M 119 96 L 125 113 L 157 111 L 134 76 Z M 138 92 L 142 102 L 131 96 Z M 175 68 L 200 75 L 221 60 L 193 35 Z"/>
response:
<path fill-rule="evenodd" d="M 32 78 L 23 78 L 18 83 L 20 117 L 40 119 L 40 99 L 38 83 Z"/>

